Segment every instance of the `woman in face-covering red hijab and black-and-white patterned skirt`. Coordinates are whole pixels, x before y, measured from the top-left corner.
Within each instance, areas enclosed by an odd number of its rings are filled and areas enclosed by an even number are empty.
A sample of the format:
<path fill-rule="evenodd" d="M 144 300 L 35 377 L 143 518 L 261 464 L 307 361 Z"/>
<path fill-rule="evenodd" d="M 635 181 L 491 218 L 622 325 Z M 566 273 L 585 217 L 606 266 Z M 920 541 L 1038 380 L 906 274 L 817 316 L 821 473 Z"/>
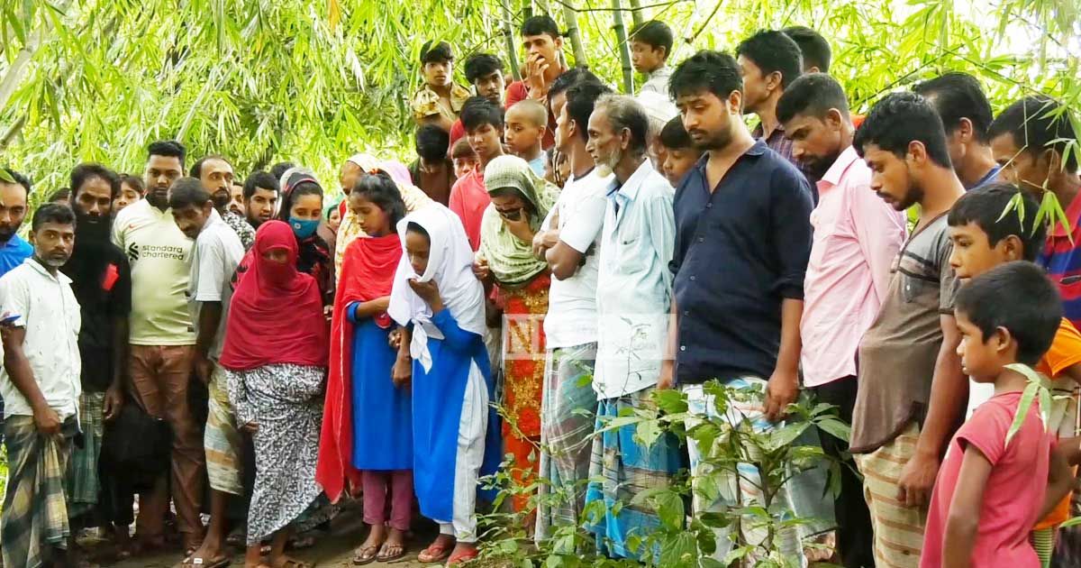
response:
<path fill-rule="evenodd" d="M 286 563 L 288 528 L 320 496 L 316 458 L 326 325 L 319 286 L 297 272 L 296 256 L 289 225 L 268 221 L 259 227 L 238 268 L 222 352 L 237 424 L 252 433 L 255 446 L 244 558 L 249 568 L 263 565 L 259 542 L 269 538 L 267 564 Z M 289 317 L 282 317 L 283 309 Z"/>

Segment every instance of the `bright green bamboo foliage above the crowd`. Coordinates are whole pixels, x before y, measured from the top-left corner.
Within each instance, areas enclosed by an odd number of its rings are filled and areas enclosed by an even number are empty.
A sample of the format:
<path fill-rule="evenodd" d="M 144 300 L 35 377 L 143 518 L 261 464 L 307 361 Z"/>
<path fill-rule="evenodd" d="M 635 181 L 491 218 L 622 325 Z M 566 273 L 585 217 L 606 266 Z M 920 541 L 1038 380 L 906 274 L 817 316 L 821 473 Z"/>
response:
<path fill-rule="evenodd" d="M 36 193 L 78 161 L 142 171 L 144 148 L 182 140 L 222 154 L 243 175 L 290 159 L 330 182 L 361 149 L 412 155 L 406 108 L 429 39 L 461 63 L 489 51 L 510 61 L 528 14 L 577 32 L 569 64 L 626 84 L 613 6 L 626 29 L 667 22 L 670 62 L 732 50 L 760 28 L 806 25 L 831 43 L 856 111 L 882 93 L 945 70 L 979 77 L 992 106 L 1041 92 L 1081 108 L 1076 0 L 0 0 L 0 151 Z M 509 16 L 509 18 L 508 18 Z M 629 31 L 628 31 L 629 32 Z M 633 39 L 633 38 L 628 38 Z M 587 61 L 576 61 L 585 54 Z M 522 61 L 522 53 L 517 54 Z M 641 78 L 633 78 L 636 84 Z M 1075 113 L 1077 116 L 1077 113 Z M 1081 131 L 1081 128 L 1078 128 Z M 329 183 L 329 186 L 336 184 Z M 37 199 L 40 199 L 38 197 Z"/>

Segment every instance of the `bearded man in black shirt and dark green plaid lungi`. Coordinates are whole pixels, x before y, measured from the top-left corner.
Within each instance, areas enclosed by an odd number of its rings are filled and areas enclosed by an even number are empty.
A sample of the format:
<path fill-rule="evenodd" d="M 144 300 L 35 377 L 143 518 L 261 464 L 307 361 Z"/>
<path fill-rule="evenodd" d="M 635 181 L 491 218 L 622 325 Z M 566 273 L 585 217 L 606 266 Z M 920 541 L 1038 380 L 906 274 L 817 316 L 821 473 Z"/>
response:
<path fill-rule="evenodd" d="M 68 516 L 78 526 L 80 517 L 98 502 L 104 423 L 117 418 L 123 405 L 132 279 L 128 257 L 109 240 L 120 176 L 97 163 L 80 163 L 71 170 L 70 181 L 75 249 L 61 270 L 71 279 L 82 316 L 79 425 L 83 445 L 71 454 L 68 486 Z"/>

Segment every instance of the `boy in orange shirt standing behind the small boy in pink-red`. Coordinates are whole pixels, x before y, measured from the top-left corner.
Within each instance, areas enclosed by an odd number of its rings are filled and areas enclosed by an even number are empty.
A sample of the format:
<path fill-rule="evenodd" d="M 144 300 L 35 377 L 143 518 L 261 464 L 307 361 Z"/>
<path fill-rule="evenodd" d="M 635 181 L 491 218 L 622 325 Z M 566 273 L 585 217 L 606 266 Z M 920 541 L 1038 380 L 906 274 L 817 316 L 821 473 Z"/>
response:
<path fill-rule="evenodd" d="M 970 190 L 953 204 L 947 223 L 953 242 L 950 265 L 958 278 L 975 278 L 1011 261 L 1036 260 L 1045 238 L 1045 227 L 1033 226 L 1036 215 L 1031 211 L 1038 209 L 1036 198 L 1022 191 L 1022 206 L 1011 209 L 1005 215 L 1002 213 L 1019 191 L 1012 184 L 991 184 Z M 1020 207 L 1027 215 L 1020 215 Z M 1036 370 L 1054 380 L 1056 397 L 1047 420 L 1049 431 L 1063 438 L 1062 447 L 1078 447 L 1079 440 L 1075 438 L 1077 434 L 1073 431 L 1077 406 L 1069 395 L 1081 384 L 1081 333 L 1068 319 L 1060 320 L 1051 348 Z M 969 393 L 967 415 L 971 417 L 977 407 L 993 396 L 995 388 L 970 379 Z M 1071 464 L 1078 461 L 1073 455 L 1068 458 Z M 1033 528 L 1037 553 L 1044 566 L 1051 560 L 1055 527 L 1069 517 L 1067 497 Z"/>

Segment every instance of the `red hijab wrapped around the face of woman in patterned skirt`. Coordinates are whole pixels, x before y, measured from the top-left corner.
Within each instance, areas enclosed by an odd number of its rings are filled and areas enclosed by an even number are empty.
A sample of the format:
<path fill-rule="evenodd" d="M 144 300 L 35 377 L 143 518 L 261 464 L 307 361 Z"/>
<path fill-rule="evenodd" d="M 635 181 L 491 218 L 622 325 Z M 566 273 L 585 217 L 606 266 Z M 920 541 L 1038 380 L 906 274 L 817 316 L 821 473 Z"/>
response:
<path fill-rule="evenodd" d="M 289 260 L 264 259 L 271 250 L 284 250 Z M 296 270 L 296 237 L 288 224 L 267 221 L 259 226 L 255 246 L 237 268 L 222 367 L 246 371 L 273 364 L 326 365 L 319 286 Z"/>

